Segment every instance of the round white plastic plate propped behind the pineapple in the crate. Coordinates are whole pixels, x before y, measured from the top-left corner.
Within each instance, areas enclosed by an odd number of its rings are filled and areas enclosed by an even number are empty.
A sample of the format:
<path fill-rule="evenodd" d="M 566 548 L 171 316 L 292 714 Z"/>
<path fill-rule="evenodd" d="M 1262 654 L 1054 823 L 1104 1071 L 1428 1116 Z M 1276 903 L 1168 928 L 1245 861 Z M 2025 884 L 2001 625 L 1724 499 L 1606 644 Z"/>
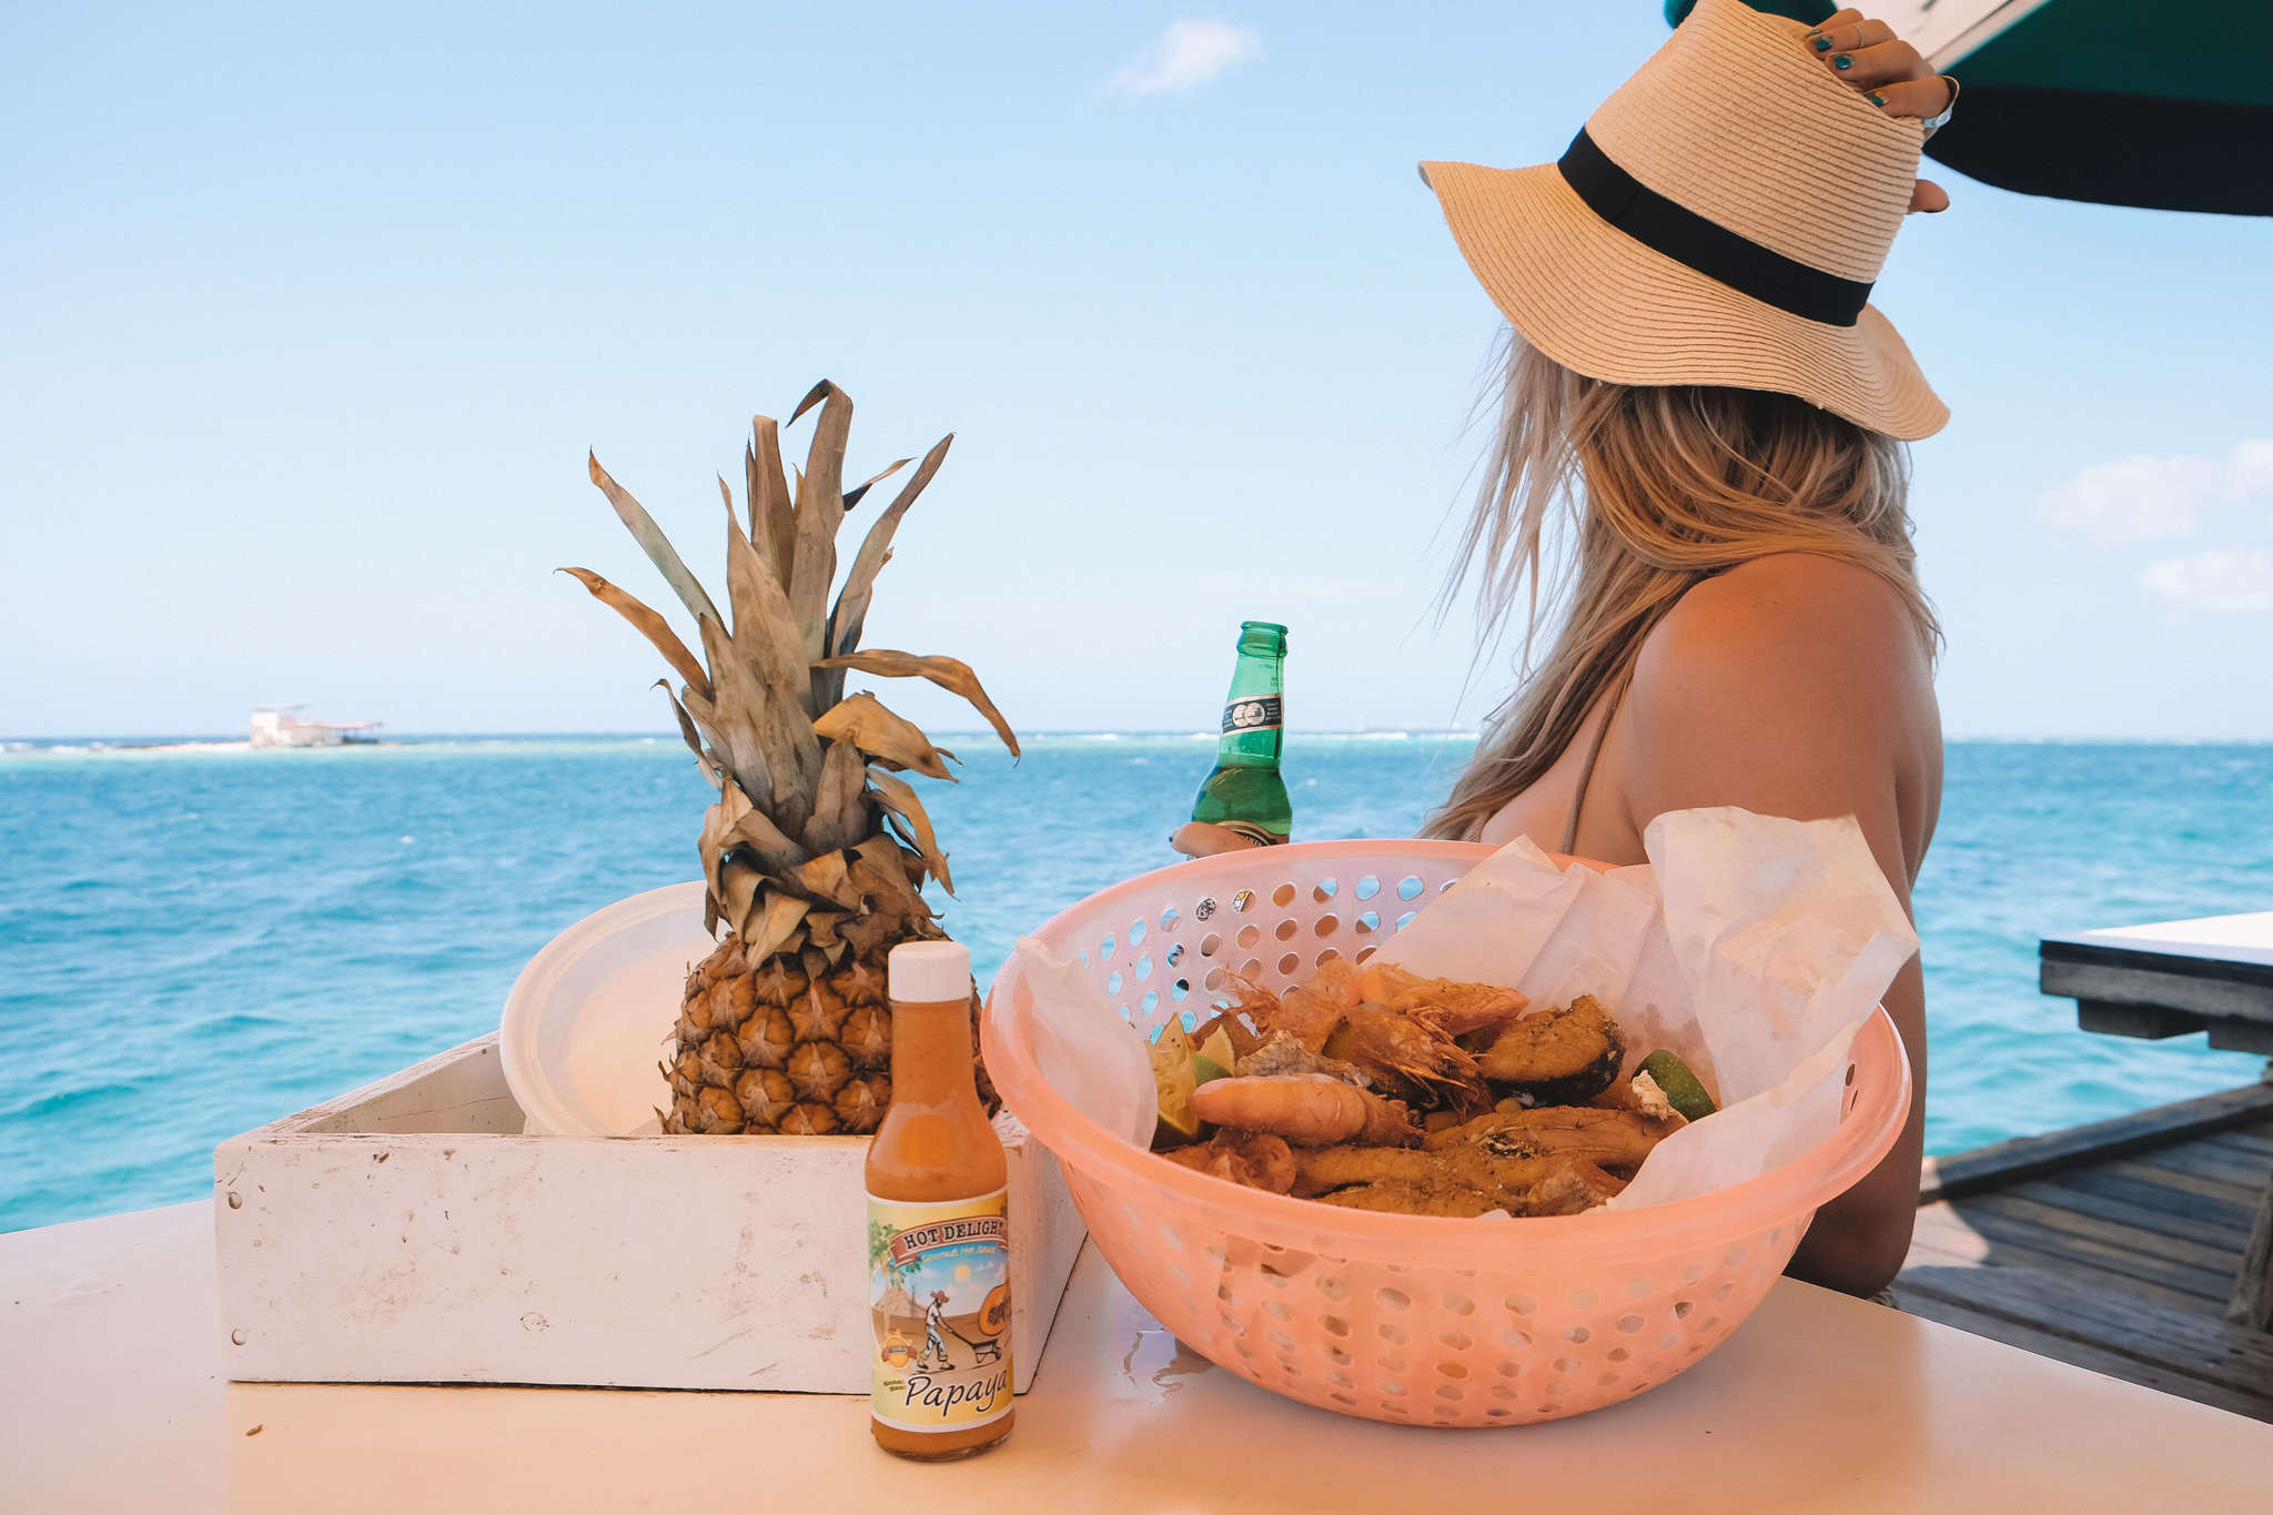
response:
<path fill-rule="evenodd" d="M 655 1065 L 686 970 L 716 943 L 702 881 L 666 884 L 586 915 L 530 959 L 505 997 L 498 1056 L 530 1136 L 655 1136 L 668 1099 Z"/>

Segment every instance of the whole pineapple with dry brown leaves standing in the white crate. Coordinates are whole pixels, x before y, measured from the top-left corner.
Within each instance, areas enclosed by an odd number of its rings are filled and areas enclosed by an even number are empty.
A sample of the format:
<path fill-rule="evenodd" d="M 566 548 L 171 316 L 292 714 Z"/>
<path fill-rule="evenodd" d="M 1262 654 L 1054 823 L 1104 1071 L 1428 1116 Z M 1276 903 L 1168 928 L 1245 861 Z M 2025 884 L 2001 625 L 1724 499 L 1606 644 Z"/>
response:
<path fill-rule="evenodd" d="M 946 436 L 871 522 L 843 588 L 836 525 L 900 459 L 843 486 L 852 402 L 823 379 L 789 422 L 821 407 L 796 493 L 782 475 L 780 427 L 759 416 L 743 447 L 750 525 L 725 500 L 727 616 L 718 611 L 639 500 L 600 459 L 591 482 L 646 547 L 696 618 L 702 659 L 671 625 L 586 568 L 566 568 L 596 600 L 630 620 L 680 677 L 659 679 L 702 777 L 718 790 L 702 818 L 705 924 L 725 924 L 718 949 L 686 974 L 671 1061 L 661 1065 L 671 1133 L 868 1133 L 891 1104 L 891 1006 L 884 954 L 946 931 L 923 899 L 925 879 L 948 893 L 948 859 L 907 770 L 952 779 L 914 725 L 875 695 L 846 695 L 846 672 L 923 677 L 968 700 L 1018 752 L 977 675 L 950 656 L 861 650 L 877 570 L 891 534 L 939 472 Z M 973 1040 L 973 1063 L 977 1045 Z M 977 1070 L 980 1093 L 993 1088 Z"/>

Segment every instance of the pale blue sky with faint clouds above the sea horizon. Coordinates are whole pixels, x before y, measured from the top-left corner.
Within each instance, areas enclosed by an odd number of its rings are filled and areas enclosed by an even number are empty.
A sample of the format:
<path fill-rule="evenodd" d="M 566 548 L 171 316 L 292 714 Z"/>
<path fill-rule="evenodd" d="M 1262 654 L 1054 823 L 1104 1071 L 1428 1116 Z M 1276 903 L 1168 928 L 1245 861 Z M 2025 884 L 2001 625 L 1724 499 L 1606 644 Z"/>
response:
<path fill-rule="evenodd" d="M 1471 720 L 1505 661 L 1462 700 L 1427 606 L 1498 318 L 1414 161 L 1555 157 L 1662 36 L 11 7 L 0 734 L 655 729 L 652 654 L 550 575 L 661 597 L 584 447 L 714 572 L 711 475 L 823 375 L 855 466 L 957 432 L 868 641 L 1016 725 L 1205 725 L 1241 616 L 1291 625 L 1298 727 Z M 2273 738 L 2273 225 L 1943 182 L 1880 304 L 1955 411 L 1914 491 L 1948 729 Z"/>

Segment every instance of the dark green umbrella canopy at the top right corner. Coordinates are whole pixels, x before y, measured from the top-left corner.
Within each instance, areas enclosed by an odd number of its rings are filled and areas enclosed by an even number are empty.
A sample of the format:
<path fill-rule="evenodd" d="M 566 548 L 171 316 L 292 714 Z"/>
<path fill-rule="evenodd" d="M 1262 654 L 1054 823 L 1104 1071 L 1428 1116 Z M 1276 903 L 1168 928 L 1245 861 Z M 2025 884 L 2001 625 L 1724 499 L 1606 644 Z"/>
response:
<path fill-rule="evenodd" d="M 1752 0 L 1816 23 L 1823 0 Z M 1668 18 L 1689 0 L 1668 0 Z M 1866 14 L 1964 84 L 1925 145 L 2025 195 L 2273 216 L 2266 0 L 1882 0 Z"/>

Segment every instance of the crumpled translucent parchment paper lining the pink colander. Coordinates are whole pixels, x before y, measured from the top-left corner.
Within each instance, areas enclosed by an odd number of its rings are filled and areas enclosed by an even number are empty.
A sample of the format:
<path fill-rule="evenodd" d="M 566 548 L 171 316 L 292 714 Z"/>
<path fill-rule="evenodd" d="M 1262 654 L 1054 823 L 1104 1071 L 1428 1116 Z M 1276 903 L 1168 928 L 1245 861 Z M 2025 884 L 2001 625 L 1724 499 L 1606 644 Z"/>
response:
<path fill-rule="evenodd" d="M 1593 995 L 1625 1029 L 1627 1074 L 1659 1047 L 1696 1070 L 1721 1111 L 1662 1140 L 1614 1208 L 1741 1183 L 1827 1138 L 1848 1043 L 1918 949 L 1850 818 L 1671 811 L 1643 849 L 1641 868 L 1564 872 L 1518 838 L 1380 949 L 1418 974 L 1521 988 L 1532 1008 Z M 1157 1104 L 1143 1038 L 1080 963 L 1034 938 L 1018 956 L 1043 1074 L 1146 1142 Z"/>

